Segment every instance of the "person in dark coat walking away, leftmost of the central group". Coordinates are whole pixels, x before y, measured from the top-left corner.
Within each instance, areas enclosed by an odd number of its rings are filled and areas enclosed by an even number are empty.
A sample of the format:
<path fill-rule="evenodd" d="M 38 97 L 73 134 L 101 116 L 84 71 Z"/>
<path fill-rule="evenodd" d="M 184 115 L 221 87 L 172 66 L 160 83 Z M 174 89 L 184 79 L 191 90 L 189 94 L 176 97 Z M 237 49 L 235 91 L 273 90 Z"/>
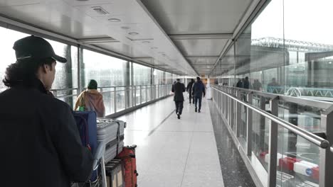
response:
<path fill-rule="evenodd" d="M 176 115 L 180 119 L 181 113 L 184 107 L 184 95 L 185 85 L 180 82 L 180 79 L 176 79 L 176 84 L 172 85 L 171 91 L 174 93 L 174 103 L 176 105 Z"/>

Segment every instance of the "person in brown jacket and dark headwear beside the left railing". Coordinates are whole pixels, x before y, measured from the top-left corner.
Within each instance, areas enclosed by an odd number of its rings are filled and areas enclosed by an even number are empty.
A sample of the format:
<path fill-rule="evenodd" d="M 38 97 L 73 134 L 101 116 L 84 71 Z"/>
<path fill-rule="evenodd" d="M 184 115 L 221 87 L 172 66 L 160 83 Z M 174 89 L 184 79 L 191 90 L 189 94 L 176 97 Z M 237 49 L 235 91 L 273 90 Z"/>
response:
<path fill-rule="evenodd" d="M 90 80 L 88 89 L 78 96 L 74 109 L 78 111 L 95 111 L 97 117 L 105 117 L 103 96 L 97 91 L 97 81 Z"/>

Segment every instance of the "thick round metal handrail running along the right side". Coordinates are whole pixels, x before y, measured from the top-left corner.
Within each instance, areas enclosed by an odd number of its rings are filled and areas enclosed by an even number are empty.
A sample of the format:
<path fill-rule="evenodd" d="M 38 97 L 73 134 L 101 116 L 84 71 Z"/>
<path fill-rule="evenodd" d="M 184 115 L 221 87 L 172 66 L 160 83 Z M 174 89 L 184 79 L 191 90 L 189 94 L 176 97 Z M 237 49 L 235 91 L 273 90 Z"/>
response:
<path fill-rule="evenodd" d="M 255 106 L 252 106 L 249 103 L 245 103 L 244 101 L 241 101 L 238 98 L 236 98 L 230 94 L 226 94 L 223 91 L 216 89 L 215 87 L 212 87 L 212 88 L 215 89 L 216 91 L 220 92 L 221 94 L 224 94 L 224 95 L 228 96 L 229 98 L 232 98 L 234 101 L 237 101 L 238 103 L 242 104 L 243 106 L 246 106 L 247 108 L 250 108 L 251 110 L 253 110 L 257 113 L 260 113 L 261 115 L 265 116 L 265 118 L 268 118 L 268 119 L 274 121 L 278 125 L 281 125 L 283 128 L 286 128 L 287 130 L 294 132 L 296 135 L 300 135 L 301 137 L 304 137 L 306 140 L 314 143 L 314 145 L 317 145 L 317 146 L 321 147 L 322 149 L 326 149 L 327 147 L 329 147 L 329 141 L 324 140 L 322 137 L 314 135 L 311 132 L 307 132 L 306 130 L 303 130 L 302 128 L 298 128 L 297 126 L 292 125 L 292 123 L 288 123 L 285 120 L 277 118 L 275 115 L 267 113 L 267 112 L 261 110 L 260 108 L 256 108 Z M 330 149 L 331 149 L 331 151 L 333 150 L 332 147 L 330 147 Z"/>

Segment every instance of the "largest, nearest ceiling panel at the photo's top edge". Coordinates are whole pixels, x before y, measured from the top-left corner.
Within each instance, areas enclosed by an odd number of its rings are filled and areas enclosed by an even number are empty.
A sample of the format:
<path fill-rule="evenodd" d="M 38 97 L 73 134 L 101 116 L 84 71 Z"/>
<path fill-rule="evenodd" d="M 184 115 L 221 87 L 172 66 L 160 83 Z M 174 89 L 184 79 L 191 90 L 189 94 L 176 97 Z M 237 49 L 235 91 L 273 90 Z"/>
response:
<path fill-rule="evenodd" d="M 166 33 L 233 33 L 252 0 L 142 0 Z"/>

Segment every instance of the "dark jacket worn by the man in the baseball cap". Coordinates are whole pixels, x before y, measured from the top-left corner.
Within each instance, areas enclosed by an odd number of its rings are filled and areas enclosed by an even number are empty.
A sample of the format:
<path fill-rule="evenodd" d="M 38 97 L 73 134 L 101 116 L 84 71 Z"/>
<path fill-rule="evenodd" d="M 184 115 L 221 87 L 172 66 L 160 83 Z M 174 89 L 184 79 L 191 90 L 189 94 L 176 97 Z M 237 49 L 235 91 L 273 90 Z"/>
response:
<path fill-rule="evenodd" d="M 89 178 L 93 157 L 72 110 L 41 81 L 2 92 L 0 103 L 1 186 L 67 187 Z"/>

